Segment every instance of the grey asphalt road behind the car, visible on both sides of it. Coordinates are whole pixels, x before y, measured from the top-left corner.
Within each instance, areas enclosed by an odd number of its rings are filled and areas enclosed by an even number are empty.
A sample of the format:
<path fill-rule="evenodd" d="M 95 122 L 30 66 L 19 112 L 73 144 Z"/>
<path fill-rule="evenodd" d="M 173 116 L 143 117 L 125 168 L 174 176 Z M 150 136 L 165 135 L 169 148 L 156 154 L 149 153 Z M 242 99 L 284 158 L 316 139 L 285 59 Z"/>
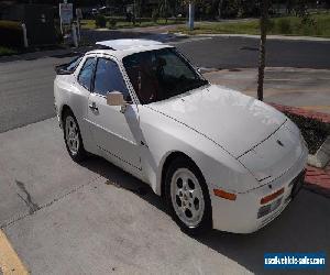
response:
<path fill-rule="evenodd" d="M 164 35 L 161 38 L 164 40 Z M 196 37 L 168 41 L 177 42 L 177 47 L 200 67 L 257 65 L 257 40 Z M 267 66 L 330 68 L 329 42 L 268 41 L 267 48 Z M 38 53 L 37 58 L 30 55 L 28 59 L 13 57 L 18 59 L 15 62 L 0 59 L 0 132 L 55 116 L 53 67 L 72 58 L 61 53 L 51 56 Z"/>

